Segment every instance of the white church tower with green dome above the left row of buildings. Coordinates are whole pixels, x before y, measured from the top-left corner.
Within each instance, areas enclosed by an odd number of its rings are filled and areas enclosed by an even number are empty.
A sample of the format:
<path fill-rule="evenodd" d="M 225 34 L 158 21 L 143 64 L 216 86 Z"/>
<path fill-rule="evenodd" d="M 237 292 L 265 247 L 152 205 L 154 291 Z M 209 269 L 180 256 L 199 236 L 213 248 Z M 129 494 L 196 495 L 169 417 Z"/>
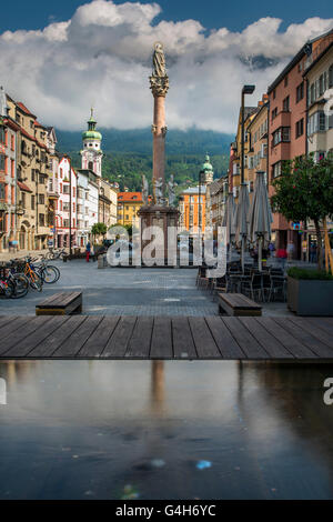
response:
<path fill-rule="evenodd" d="M 97 121 L 93 118 L 93 109 L 91 109 L 90 119 L 88 120 L 88 130 L 82 133 L 83 149 L 81 150 L 82 169 L 92 170 L 95 175 L 102 177 L 102 157 L 101 141 L 102 134 L 95 129 Z"/>

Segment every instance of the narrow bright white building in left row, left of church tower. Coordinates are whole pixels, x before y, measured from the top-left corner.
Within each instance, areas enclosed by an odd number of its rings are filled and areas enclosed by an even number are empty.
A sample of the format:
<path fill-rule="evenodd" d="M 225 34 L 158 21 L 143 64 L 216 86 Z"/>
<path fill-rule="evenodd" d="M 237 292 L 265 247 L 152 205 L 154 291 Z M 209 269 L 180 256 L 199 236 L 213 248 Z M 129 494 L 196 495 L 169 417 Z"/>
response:
<path fill-rule="evenodd" d="M 67 158 L 59 161 L 58 173 L 56 173 L 56 184 L 59 198 L 56 201 L 56 241 L 57 247 L 70 247 L 70 204 L 71 204 L 71 238 L 72 247 L 77 244 L 77 187 L 78 175 L 71 169 L 71 193 L 70 193 L 70 164 Z"/>

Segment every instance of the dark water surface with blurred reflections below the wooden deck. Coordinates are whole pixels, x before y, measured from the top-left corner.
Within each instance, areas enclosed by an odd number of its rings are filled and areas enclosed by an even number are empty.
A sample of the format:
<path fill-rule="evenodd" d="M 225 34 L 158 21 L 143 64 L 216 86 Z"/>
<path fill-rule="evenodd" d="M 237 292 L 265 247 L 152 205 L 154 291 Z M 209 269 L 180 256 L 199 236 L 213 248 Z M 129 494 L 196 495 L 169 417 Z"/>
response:
<path fill-rule="evenodd" d="M 0 498 L 331 499 L 332 375 L 323 364 L 1 362 Z"/>

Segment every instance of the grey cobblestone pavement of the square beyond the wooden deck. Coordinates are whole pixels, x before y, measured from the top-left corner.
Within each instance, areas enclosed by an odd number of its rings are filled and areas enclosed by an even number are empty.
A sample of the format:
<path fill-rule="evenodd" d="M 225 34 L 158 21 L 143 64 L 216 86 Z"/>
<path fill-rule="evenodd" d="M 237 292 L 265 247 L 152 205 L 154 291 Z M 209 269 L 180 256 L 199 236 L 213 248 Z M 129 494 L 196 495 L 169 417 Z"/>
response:
<path fill-rule="evenodd" d="M 42 293 L 30 290 L 19 300 L 0 299 L 1 314 L 34 315 L 36 304 L 52 293 L 82 290 L 83 313 L 117 315 L 216 315 L 210 291 L 195 287 L 196 269 L 108 268 L 97 262 L 52 261 L 61 270 Z M 286 315 L 285 303 L 264 305 L 264 315 Z"/>

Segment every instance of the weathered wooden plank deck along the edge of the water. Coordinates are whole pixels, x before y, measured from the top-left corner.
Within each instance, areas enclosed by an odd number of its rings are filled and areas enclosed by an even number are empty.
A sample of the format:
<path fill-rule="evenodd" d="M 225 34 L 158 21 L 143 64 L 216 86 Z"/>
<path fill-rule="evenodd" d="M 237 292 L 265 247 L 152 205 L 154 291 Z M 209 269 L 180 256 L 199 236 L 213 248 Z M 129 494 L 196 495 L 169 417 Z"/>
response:
<path fill-rule="evenodd" d="M 333 318 L 2 315 L 0 359 L 333 362 Z"/>

